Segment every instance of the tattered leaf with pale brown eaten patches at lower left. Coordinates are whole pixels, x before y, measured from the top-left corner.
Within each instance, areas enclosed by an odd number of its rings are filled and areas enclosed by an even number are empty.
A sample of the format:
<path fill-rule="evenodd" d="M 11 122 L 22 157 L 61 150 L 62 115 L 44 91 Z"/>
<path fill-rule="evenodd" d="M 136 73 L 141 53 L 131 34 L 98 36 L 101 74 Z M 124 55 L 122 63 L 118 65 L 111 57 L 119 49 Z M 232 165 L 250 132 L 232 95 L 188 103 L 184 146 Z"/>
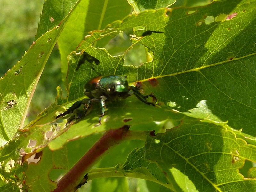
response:
<path fill-rule="evenodd" d="M 63 132 L 65 132 L 65 130 L 60 130 L 60 127 L 57 127 L 54 123 L 50 123 L 50 126 L 49 124 L 43 126 L 37 125 L 32 126 L 27 130 L 18 131 L 16 137 L 0 150 L 0 174 L 3 176 L 4 181 L 6 182 L 7 180 L 12 179 L 13 182 L 15 181 L 15 185 L 22 182 L 24 179 L 24 172 L 27 169 L 26 160 L 30 156 L 40 152 L 51 140 L 58 137 L 58 135 Z M 65 167 L 65 163 L 67 162 L 64 160 L 65 158 L 57 156 L 56 154 L 58 153 L 59 152 L 56 152 L 55 156 L 53 156 L 54 158 L 52 158 L 54 167 Z M 21 156 L 23 156 L 22 166 L 22 162 L 19 160 Z M 12 166 L 10 166 L 10 164 L 12 164 Z M 42 166 L 45 166 L 44 170 L 46 170 L 46 167 L 50 166 L 48 168 L 48 170 L 50 170 L 53 165 L 47 164 Z"/>

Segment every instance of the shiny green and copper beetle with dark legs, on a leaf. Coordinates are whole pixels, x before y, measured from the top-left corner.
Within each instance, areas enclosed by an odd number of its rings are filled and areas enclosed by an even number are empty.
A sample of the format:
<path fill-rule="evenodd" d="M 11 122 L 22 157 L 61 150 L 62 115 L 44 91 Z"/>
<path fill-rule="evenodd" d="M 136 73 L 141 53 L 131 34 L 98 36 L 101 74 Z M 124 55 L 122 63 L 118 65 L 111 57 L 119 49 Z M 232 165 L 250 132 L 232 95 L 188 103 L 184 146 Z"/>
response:
<path fill-rule="evenodd" d="M 101 119 L 105 115 L 106 101 L 114 102 L 117 100 L 125 99 L 131 95 L 135 95 L 143 103 L 156 106 L 156 97 L 154 95 L 142 95 L 140 93 L 141 86 L 129 86 L 126 77 L 121 75 L 108 75 L 108 76 L 98 76 L 90 81 L 88 81 L 84 86 L 84 94 L 89 97 L 83 100 L 75 102 L 67 111 L 60 113 L 56 116 L 56 119 L 63 117 L 69 113 L 73 113 L 74 110 L 79 108 L 82 104 L 84 105 L 84 110 L 76 114 L 76 116 L 71 117 L 68 123 L 74 119 L 80 119 L 86 116 L 88 109 L 92 104 L 100 104 L 100 117 L 99 123 L 101 124 Z M 148 102 L 147 98 L 152 97 L 155 101 L 154 103 Z"/>

